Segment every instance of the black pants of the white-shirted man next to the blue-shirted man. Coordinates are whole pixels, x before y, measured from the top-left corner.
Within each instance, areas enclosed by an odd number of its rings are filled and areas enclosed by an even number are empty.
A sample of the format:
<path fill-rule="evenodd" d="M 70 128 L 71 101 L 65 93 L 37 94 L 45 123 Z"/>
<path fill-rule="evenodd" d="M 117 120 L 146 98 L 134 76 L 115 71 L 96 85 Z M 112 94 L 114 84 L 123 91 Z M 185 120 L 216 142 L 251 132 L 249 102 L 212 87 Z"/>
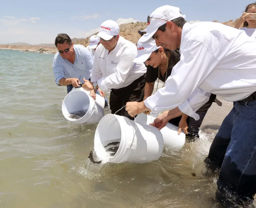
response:
<path fill-rule="evenodd" d="M 144 87 L 146 84 L 145 74 L 138 79 L 134 80 L 130 85 L 119 88 L 112 89 L 110 92 L 109 105 L 111 113 L 114 114 L 126 105 L 127 102 L 136 101 L 141 102 L 144 98 Z M 119 110 L 116 115 L 125 116 L 131 120 L 134 120 L 134 117 L 131 117 L 128 112 L 123 108 Z"/>

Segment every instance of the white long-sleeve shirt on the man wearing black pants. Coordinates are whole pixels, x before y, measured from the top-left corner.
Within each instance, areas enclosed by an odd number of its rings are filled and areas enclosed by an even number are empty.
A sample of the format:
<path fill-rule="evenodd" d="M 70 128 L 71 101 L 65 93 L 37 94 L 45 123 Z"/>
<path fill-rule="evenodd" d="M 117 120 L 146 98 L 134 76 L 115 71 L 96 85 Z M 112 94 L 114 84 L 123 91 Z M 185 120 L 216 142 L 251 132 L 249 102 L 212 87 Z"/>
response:
<path fill-rule="evenodd" d="M 121 36 L 110 54 L 100 44 L 94 56 L 91 81 L 97 81 L 103 91 L 130 85 L 147 70 L 144 63 L 133 63 L 136 56 L 136 45 Z"/>

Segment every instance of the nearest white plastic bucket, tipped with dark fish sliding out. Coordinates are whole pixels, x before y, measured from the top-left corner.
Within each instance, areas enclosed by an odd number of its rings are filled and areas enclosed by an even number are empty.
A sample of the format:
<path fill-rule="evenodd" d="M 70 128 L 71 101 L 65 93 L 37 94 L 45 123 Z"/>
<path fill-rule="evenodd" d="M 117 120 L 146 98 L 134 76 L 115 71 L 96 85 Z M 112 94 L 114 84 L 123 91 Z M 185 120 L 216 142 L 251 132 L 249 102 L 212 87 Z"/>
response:
<path fill-rule="evenodd" d="M 104 146 L 112 142 L 119 142 L 119 148 L 110 157 Z M 108 114 L 96 128 L 94 150 L 97 160 L 102 160 L 103 163 L 147 163 L 160 158 L 163 137 L 155 127 L 136 123 L 124 116 Z"/>

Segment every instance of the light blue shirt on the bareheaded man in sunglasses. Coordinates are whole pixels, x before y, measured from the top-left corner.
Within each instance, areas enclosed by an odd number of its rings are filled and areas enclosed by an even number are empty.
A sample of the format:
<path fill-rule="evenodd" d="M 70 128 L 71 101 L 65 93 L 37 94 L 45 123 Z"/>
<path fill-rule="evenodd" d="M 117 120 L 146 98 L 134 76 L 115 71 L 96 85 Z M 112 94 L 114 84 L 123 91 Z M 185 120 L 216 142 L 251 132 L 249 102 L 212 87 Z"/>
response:
<path fill-rule="evenodd" d="M 90 51 L 82 45 L 74 45 L 75 62 L 72 64 L 67 59 L 60 56 L 59 52 L 53 59 L 53 74 L 55 82 L 59 85 L 61 78 L 78 78 L 80 83 L 84 83 L 83 78 L 90 78 L 94 57 Z"/>

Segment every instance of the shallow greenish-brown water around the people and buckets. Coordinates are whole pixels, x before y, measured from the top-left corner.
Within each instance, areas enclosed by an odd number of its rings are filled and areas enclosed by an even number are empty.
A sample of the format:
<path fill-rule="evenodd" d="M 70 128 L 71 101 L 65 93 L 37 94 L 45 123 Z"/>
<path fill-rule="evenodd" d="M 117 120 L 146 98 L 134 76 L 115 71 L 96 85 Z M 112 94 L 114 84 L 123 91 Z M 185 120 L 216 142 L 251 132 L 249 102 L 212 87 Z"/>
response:
<path fill-rule="evenodd" d="M 146 164 L 91 164 L 96 124 L 68 123 L 52 54 L 0 50 L 0 207 L 217 207 L 202 160 L 231 103 L 215 103 L 200 140 Z M 108 111 L 105 112 L 110 113 Z"/>

